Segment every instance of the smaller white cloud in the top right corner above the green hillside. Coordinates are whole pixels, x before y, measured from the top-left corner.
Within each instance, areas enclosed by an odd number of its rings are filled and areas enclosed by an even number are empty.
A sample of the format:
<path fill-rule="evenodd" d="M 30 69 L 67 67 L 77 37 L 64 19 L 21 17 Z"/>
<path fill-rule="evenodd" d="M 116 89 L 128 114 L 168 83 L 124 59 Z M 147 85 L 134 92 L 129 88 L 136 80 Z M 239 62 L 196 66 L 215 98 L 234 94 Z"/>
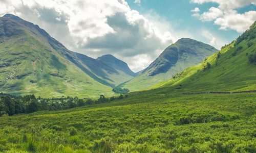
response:
<path fill-rule="evenodd" d="M 256 11 L 238 13 L 236 10 L 248 5 L 256 5 L 256 0 L 191 0 L 190 2 L 219 4 L 218 8 L 211 7 L 207 12 L 202 14 L 196 12 L 192 16 L 202 21 L 214 21 L 215 24 L 220 25 L 221 30 L 232 29 L 242 33 L 256 20 Z"/>

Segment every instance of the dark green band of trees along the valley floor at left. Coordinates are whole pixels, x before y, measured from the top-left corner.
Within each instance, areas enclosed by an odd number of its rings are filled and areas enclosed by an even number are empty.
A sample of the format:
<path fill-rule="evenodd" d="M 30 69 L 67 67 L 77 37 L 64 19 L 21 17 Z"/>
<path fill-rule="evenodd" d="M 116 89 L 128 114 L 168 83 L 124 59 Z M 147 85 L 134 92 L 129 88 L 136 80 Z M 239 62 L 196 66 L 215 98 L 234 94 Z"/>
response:
<path fill-rule="evenodd" d="M 33 113 L 42 110 L 65 110 L 75 107 L 109 103 L 115 99 L 122 99 L 128 95 L 106 98 L 100 95 L 98 99 L 80 99 L 78 97 L 36 98 L 35 95 L 13 96 L 0 93 L 0 116 L 20 113 Z"/>

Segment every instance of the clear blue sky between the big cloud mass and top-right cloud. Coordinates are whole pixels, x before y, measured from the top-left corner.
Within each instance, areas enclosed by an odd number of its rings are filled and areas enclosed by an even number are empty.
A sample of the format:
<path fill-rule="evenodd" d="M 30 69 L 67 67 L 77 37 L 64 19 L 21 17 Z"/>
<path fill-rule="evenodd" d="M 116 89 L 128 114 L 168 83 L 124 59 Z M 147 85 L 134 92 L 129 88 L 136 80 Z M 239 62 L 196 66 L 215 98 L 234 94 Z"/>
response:
<path fill-rule="evenodd" d="M 156 12 L 160 17 L 166 19 L 176 33 L 187 31 L 194 39 L 208 43 L 209 40 L 205 40 L 200 33 L 202 30 L 207 30 L 212 35 L 221 38 L 222 43 L 216 45 L 218 49 L 225 43 L 229 43 L 236 39 L 241 33 L 236 30 L 219 30 L 220 26 L 214 24 L 214 21 L 201 21 L 197 17 L 192 16 L 191 10 L 198 7 L 200 12 L 206 12 L 211 7 L 218 7 L 217 3 L 205 3 L 195 4 L 190 3 L 188 0 L 161 0 L 161 1 L 150 1 L 141 0 L 140 4 L 134 3 L 134 0 L 127 0 L 129 6 L 138 10 L 141 14 L 148 14 L 152 11 Z M 245 13 L 251 10 L 256 10 L 255 5 L 249 5 L 237 9 L 239 13 Z M 186 37 L 185 35 L 182 35 Z M 190 36 L 190 35 L 189 35 Z M 187 37 L 189 37 L 187 36 Z M 191 36 L 190 36 L 191 37 Z"/>

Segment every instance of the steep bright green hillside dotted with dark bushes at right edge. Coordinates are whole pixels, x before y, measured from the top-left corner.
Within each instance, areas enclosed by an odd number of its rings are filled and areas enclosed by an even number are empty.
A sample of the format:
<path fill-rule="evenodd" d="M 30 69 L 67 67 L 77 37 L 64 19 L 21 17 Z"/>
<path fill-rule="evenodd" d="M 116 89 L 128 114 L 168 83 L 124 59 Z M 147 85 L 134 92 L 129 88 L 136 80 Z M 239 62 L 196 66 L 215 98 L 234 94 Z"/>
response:
<path fill-rule="evenodd" d="M 199 65 L 189 67 L 165 83 L 161 90 L 247 91 L 256 90 L 256 23 L 237 40 Z"/>

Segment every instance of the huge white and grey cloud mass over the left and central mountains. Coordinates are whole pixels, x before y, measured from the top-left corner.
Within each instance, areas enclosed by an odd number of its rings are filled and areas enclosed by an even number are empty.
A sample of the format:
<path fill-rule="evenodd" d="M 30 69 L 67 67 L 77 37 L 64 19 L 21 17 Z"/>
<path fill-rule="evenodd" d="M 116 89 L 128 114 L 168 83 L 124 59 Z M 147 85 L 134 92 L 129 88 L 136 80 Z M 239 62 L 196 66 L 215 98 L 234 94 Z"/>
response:
<path fill-rule="evenodd" d="M 38 24 L 75 52 L 95 58 L 113 54 L 135 71 L 174 42 L 172 34 L 160 31 L 124 0 L 1 0 L 0 15 L 6 13 Z"/>

